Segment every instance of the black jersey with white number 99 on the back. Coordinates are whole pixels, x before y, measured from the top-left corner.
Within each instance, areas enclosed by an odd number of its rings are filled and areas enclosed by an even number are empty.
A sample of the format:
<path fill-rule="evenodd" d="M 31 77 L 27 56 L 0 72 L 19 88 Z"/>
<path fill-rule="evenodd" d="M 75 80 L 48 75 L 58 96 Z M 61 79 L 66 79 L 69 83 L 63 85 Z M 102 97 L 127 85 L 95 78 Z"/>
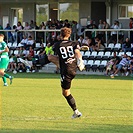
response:
<path fill-rule="evenodd" d="M 75 49 L 78 43 L 72 41 L 62 41 L 56 43 L 55 51 L 59 56 L 60 72 L 63 75 L 75 75 L 77 69 L 77 59 Z"/>

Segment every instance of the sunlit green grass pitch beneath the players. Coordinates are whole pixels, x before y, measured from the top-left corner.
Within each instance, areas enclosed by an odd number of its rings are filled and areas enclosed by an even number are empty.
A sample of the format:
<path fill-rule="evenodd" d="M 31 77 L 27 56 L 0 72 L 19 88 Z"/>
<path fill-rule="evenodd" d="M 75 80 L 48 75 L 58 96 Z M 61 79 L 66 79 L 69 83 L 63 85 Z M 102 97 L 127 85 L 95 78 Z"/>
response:
<path fill-rule="evenodd" d="M 77 75 L 71 93 L 83 116 L 61 94 L 60 75 L 20 73 L 0 80 L 0 133 L 133 133 L 131 77 Z"/>

